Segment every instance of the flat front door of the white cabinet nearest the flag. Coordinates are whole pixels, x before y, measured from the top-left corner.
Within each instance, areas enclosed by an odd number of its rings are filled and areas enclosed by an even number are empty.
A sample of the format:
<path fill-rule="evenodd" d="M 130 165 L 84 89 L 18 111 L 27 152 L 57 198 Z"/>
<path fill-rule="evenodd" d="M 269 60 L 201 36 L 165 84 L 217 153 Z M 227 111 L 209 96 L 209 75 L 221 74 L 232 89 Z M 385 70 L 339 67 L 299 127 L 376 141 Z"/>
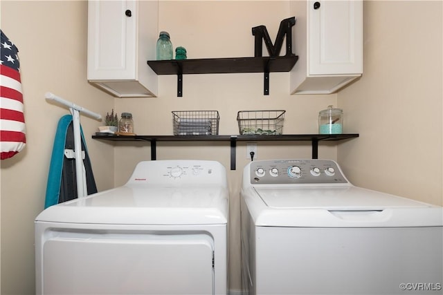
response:
<path fill-rule="evenodd" d="M 134 79 L 136 1 L 89 1 L 88 9 L 88 79 Z"/>

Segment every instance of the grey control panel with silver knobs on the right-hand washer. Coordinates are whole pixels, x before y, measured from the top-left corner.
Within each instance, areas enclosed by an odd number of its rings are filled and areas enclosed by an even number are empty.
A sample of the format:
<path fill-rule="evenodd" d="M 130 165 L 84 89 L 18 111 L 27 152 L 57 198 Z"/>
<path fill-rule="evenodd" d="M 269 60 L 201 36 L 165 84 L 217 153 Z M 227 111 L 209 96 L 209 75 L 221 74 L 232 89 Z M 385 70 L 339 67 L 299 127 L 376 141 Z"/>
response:
<path fill-rule="evenodd" d="M 251 184 L 347 183 L 332 160 L 261 160 L 249 164 Z"/>

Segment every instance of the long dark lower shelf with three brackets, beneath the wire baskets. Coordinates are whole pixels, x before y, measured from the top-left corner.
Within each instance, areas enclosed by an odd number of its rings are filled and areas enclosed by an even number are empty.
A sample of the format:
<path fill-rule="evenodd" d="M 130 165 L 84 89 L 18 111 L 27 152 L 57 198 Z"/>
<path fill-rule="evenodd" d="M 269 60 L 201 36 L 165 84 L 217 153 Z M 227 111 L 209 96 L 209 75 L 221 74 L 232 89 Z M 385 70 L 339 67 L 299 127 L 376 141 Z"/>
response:
<path fill-rule="evenodd" d="M 235 148 L 237 142 L 262 141 L 310 141 L 312 158 L 318 158 L 318 142 L 338 141 L 359 137 L 350 134 L 288 134 L 288 135 L 92 135 L 96 140 L 114 142 L 150 142 L 151 160 L 156 160 L 156 142 L 230 142 L 230 169 L 235 170 Z"/>

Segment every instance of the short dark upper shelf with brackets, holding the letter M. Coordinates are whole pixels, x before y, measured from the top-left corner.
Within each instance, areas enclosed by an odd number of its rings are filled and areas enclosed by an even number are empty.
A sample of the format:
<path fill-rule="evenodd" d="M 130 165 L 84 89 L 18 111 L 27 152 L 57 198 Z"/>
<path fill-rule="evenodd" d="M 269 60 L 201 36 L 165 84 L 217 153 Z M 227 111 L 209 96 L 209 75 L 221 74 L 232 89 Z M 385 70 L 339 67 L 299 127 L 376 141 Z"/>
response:
<path fill-rule="evenodd" d="M 183 75 L 264 73 L 264 95 L 269 95 L 269 73 L 289 72 L 297 55 L 282 57 L 225 57 L 210 59 L 171 59 L 147 61 L 157 75 L 177 75 L 177 96 L 183 95 Z"/>

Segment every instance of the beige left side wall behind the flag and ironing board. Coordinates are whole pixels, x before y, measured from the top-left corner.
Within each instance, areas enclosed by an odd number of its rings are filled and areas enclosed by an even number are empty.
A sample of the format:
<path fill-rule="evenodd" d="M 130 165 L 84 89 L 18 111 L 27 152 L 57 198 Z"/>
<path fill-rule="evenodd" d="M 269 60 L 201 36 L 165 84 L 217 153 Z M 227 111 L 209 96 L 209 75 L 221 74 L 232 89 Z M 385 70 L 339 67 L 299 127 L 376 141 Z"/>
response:
<path fill-rule="evenodd" d="M 26 148 L 1 161 L 1 294 L 33 294 L 34 219 L 44 207 L 57 122 L 69 110 L 51 91 L 102 115 L 114 99 L 86 80 L 86 1 L 1 1 L 1 30 L 19 48 Z M 91 140 L 100 122 L 81 117 L 98 188 L 114 186 L 113 147 Z"/>

